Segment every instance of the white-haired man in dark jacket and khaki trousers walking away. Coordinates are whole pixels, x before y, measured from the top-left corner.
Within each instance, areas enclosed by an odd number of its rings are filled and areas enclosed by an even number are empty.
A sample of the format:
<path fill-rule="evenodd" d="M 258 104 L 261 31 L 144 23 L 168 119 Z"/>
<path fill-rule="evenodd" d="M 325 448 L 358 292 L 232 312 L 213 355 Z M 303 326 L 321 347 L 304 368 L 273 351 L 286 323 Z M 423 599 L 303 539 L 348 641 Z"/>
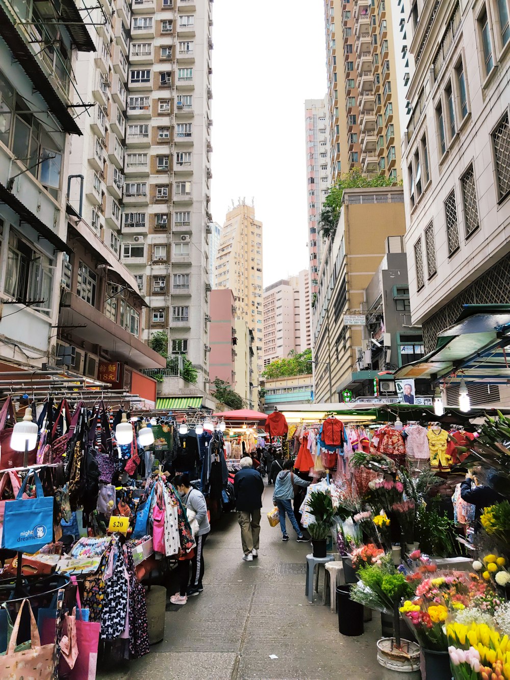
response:
<path fill-rule="evenodd" d="M 262 477 L 252 469 L 252 465 L 253 461 L 248 456 L 241 458 L 241 470 L 234 477 L 237 520 L 241 526 L 245 562 L 252 562 L 254 557 L 258 557 L 260 508 L 264 493 Z"/>

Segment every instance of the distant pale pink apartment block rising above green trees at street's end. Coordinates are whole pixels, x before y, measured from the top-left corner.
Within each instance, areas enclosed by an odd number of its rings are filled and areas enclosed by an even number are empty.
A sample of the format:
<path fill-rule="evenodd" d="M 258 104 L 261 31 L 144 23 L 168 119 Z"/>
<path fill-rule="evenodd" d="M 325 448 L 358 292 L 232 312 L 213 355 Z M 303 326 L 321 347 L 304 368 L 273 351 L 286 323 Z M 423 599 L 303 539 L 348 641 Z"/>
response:
<path fill-rule="evenodd" d="M 307 269 L 264 289 L 264 365 L 311 347 Z"/>

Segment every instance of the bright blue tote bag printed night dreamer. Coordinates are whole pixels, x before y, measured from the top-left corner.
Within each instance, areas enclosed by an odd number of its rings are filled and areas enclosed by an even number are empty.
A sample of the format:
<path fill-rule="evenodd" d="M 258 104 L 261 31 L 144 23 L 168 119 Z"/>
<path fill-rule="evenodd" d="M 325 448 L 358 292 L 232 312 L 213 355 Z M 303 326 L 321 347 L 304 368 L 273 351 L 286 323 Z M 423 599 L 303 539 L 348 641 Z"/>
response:
<path fill-rule="evenodd" d="M 35 480 L 36 497 L 23 498 L 31 475 Z M 5 503 L 1 547 L 33 554 L 52 540 L 53 496 L 44 496 L 39 475 L 35 470 L 29 470 L 16 500 Z"/>

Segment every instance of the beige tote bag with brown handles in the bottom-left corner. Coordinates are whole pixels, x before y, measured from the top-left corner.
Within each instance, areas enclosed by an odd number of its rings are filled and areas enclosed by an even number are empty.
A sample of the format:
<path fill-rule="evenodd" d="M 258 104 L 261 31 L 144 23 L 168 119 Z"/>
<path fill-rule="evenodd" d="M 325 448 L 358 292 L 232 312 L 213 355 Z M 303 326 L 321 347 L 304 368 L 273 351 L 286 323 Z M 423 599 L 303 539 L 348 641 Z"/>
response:
<path fill-rule="evenodd" d="M 16 651 L 16 641 L 20 628 L 21 615 L 24 605 L 29 606 L 30 611 L 30 636 L 31 647 L 24 651 Z M 24 599 L 16 617 L 14 628 L 10 636 L 9 645 L 5 656 L 0 656 L 0 677 L 9 680 L 23 680 L 29 678 L 51 678 L 53 677 L 55 645 L 41 646 L 39 631 L 35 623 L 32 607 L 27 599 Z"/>

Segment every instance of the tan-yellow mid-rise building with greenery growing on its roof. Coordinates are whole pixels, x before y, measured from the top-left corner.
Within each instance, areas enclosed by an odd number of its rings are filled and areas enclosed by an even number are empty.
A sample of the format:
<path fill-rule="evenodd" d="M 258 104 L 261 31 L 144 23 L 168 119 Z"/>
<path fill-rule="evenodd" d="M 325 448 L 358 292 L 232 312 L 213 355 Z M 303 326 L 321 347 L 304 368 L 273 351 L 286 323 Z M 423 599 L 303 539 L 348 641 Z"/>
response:
<path fill-rule="evenodd" d="M 341 401 L 356 380 L 367 322 L 365 290 L 386 254 L 386 240 L 405 233 L 403 190 L 346 189 L 339 223 L 326 241 L 313 305 L 316 402 Z M 340 396 L 339 396 L 340 395 Z"/>

